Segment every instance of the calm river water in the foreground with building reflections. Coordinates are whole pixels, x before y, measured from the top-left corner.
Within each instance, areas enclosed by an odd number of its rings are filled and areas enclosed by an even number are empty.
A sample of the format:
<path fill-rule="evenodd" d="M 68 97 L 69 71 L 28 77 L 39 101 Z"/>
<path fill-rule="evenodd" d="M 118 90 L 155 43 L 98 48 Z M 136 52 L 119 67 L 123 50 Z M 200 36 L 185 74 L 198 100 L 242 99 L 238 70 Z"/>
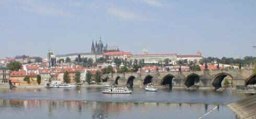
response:
<path fill-rule="evenodd" d="M 246 95 L 232 91 L 159 89 L 102 94 L 104 88 L 0 90 L 1 118 L 236 118 L 226 104 Z"/>

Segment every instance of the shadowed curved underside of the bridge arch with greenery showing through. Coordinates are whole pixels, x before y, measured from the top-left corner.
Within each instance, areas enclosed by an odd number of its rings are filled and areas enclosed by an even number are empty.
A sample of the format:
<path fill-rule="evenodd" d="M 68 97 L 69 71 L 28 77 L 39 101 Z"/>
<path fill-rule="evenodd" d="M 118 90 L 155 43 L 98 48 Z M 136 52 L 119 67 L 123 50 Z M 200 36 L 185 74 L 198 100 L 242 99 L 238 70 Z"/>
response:
<path fill-rule="evenodd" d="M 233 78 L 232 75 L 230 75 L 230 74 L 228 74 L 228 73 L 224 73 L 224 72 L 223 72 L 223 73 L 218 73 L 217 75 L 215 75 L 215 76 L 213 77 L 213 83 L 212 83 L 212 85 L 215 87 L 215 89 L 218 89 L 218 88 L 223 87 L 223 86 L 222 86 L 222 82 L 223 82 L 224 78 L 227 77 L 227 76 L 230 76 L 231 82 L 232 82 L 232 80 L 233 80 L 234 78 Z"/>

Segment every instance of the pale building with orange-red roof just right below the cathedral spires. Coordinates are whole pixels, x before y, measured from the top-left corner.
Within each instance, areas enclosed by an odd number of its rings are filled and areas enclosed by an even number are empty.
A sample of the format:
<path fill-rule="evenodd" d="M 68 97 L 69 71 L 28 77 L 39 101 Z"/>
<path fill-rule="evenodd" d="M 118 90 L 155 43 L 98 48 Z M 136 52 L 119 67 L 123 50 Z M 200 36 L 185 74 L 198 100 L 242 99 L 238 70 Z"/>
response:
<path fill-rule="evenodd" d="M 131 52 L 127 51 L 113 51 L 113 52 L 105 52 L 103 57 L 108 60 L 113 60 L 114 58 L 127 59 L 132 56 Z"/>

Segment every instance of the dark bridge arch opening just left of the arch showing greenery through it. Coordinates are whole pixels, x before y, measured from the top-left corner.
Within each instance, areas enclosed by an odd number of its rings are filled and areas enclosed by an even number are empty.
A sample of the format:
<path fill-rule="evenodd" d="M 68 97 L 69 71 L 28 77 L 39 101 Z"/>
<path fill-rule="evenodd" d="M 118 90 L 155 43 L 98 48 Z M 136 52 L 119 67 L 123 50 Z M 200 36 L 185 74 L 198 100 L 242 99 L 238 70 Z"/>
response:
<path fill-rule="evenodd" d="M 185 78 L 185 86 L 188 88 L 200 82 L 200 76 L 198 74 L 192 73 Z"/>

